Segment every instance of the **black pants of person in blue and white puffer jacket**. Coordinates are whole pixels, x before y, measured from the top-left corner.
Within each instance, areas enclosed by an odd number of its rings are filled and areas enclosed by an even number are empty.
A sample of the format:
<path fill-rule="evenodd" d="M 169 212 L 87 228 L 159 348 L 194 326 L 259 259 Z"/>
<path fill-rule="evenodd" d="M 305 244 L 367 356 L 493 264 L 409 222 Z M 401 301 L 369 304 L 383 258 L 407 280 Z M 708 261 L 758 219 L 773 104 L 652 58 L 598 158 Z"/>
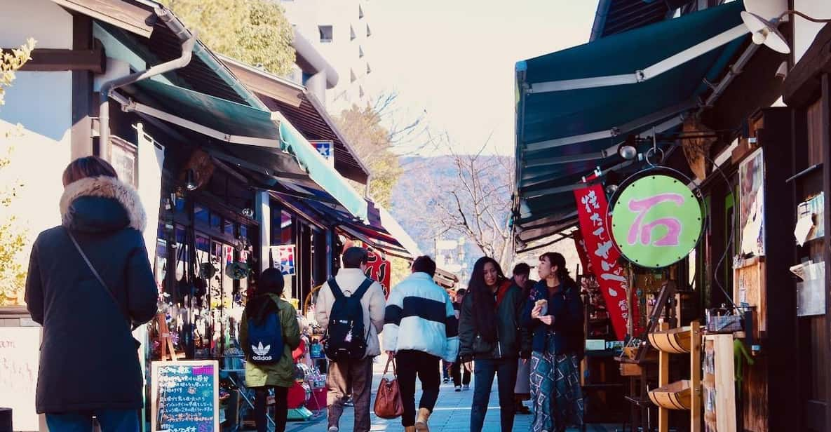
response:
<path fill-rule="evenodd" d="M 439 399 L 441 359 L 423 351 L 398 351 L 396 366 L 398 368 L 398 386 L 401 389 L 401 402 L 404 415 L 401 425 L 416 425 L 416 376 L 421 380 L 421 401 L 419 408 L 433 411 L 435 401 Z"/>

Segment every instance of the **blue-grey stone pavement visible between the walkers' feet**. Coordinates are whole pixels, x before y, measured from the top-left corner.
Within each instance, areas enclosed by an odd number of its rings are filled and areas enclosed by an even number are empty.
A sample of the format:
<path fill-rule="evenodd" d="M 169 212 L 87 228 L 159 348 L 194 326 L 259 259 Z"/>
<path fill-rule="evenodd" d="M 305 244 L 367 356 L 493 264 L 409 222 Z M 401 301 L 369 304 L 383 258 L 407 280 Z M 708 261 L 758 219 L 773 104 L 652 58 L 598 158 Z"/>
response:
<path fill-rule="evenodd" d="M 381 374 L 377 373 L 373 376 L 373 396 L 372 401 L 375 401 L 375 390 L 377 384 L 381 381 Z M 416 406 L 420 398 L 420 391 L 416 393 Z M 456 393 L 452 384 L 441 385 L 441 393 L 439 395 L 438 403 L 436 404 L 433 415 L 430 417 L 430 432 L 463 432 L 470 430 L 470 405 L 473 400 L 473 386 L 470 390 Z M 526 405 L 529 402 L 526 402 Z M 514 420 L 514 430 L 527 431 L 530 429 L 533 415 L 517 415 Z M 374 414 L 371 417 L 372 431 L 402 431 L 401 419 L 384 420 L 379 419 Z M 352 425 L 354 421 L 354 410 L 347 408 L 341 418 L 341 432 L 352 432 Z M 326 431 L 326 411 L 319 411 L 316 418 L 307 422 L 292 422 L 288 424 L 286 430 L 288 432 L 312 432 L 312 431 Z M 488 408 L 488 415 L 484 420 L 484 431 L 499 432 L 499 395 L 496 391 L 496 382 L 494 380 L 494 387 L 490 394 L 490 403 Z M 569 430 L 576 431 L 577 429 Z M 613 431 L 611 426 L 603 425 L 589 425 L 588 431 Z"/>

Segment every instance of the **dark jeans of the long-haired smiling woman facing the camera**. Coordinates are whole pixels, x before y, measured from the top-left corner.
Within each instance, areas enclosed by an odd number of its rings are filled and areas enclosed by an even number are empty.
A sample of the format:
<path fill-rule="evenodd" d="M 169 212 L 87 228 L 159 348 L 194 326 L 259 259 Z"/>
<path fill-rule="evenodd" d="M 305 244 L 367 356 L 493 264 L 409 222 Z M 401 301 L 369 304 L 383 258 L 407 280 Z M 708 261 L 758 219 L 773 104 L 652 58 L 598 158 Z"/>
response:
<path fill-rule="evenodd" d="M 470 410 L 470 431 L 481 432 L 488 412 L 490 388 L 494 375 L 499 376 L 499 416 L 502 432 L 514 429 L 514 385 L 517 382 L 517 359 L 481 359 L 475 362 L 473 409 Z"/>

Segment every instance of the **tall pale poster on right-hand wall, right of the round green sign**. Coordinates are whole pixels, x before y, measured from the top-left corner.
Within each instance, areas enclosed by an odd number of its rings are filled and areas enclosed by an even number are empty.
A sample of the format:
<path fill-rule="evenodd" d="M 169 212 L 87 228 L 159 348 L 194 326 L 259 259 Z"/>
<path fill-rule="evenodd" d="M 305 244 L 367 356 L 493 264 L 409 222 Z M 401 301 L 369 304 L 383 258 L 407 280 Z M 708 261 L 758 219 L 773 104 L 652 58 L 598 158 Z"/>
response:
<path fill-rule="evenodd" d="M 739 164 L 741 253 L 765 255 L 765 157 L 753 152 Z"/>

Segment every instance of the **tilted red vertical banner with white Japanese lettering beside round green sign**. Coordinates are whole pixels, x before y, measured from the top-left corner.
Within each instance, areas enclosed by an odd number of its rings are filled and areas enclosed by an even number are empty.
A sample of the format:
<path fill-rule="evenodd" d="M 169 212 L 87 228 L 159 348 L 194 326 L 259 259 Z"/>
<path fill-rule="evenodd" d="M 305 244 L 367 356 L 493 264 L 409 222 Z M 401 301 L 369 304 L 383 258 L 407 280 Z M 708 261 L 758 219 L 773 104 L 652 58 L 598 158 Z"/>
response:
<path fill-rule="evenodd" d="M 638 302 L 627 302 L 626 269 L 618 263 L 621 255 L 612 243 L 611 231 L 607 229 L 608 203 L 606 194 L 604 194 L 600 184 L 595 184 L 575 190 L 574 198 L 577 199 L 580 232 L 582 233 L 585 251 L 594 275 L 597 277 L 603 299 L 606 301 L 606 308 L 609 312 L 609 318 L 612 320 L 615 335 L 621 341 L 626 337 L 627 320 L 630 313 L 632 313 L 632 322 L 634 323 L 634 334 L 640 334 Z M 578 244 L 578 253 L 580 250 Z"/>

